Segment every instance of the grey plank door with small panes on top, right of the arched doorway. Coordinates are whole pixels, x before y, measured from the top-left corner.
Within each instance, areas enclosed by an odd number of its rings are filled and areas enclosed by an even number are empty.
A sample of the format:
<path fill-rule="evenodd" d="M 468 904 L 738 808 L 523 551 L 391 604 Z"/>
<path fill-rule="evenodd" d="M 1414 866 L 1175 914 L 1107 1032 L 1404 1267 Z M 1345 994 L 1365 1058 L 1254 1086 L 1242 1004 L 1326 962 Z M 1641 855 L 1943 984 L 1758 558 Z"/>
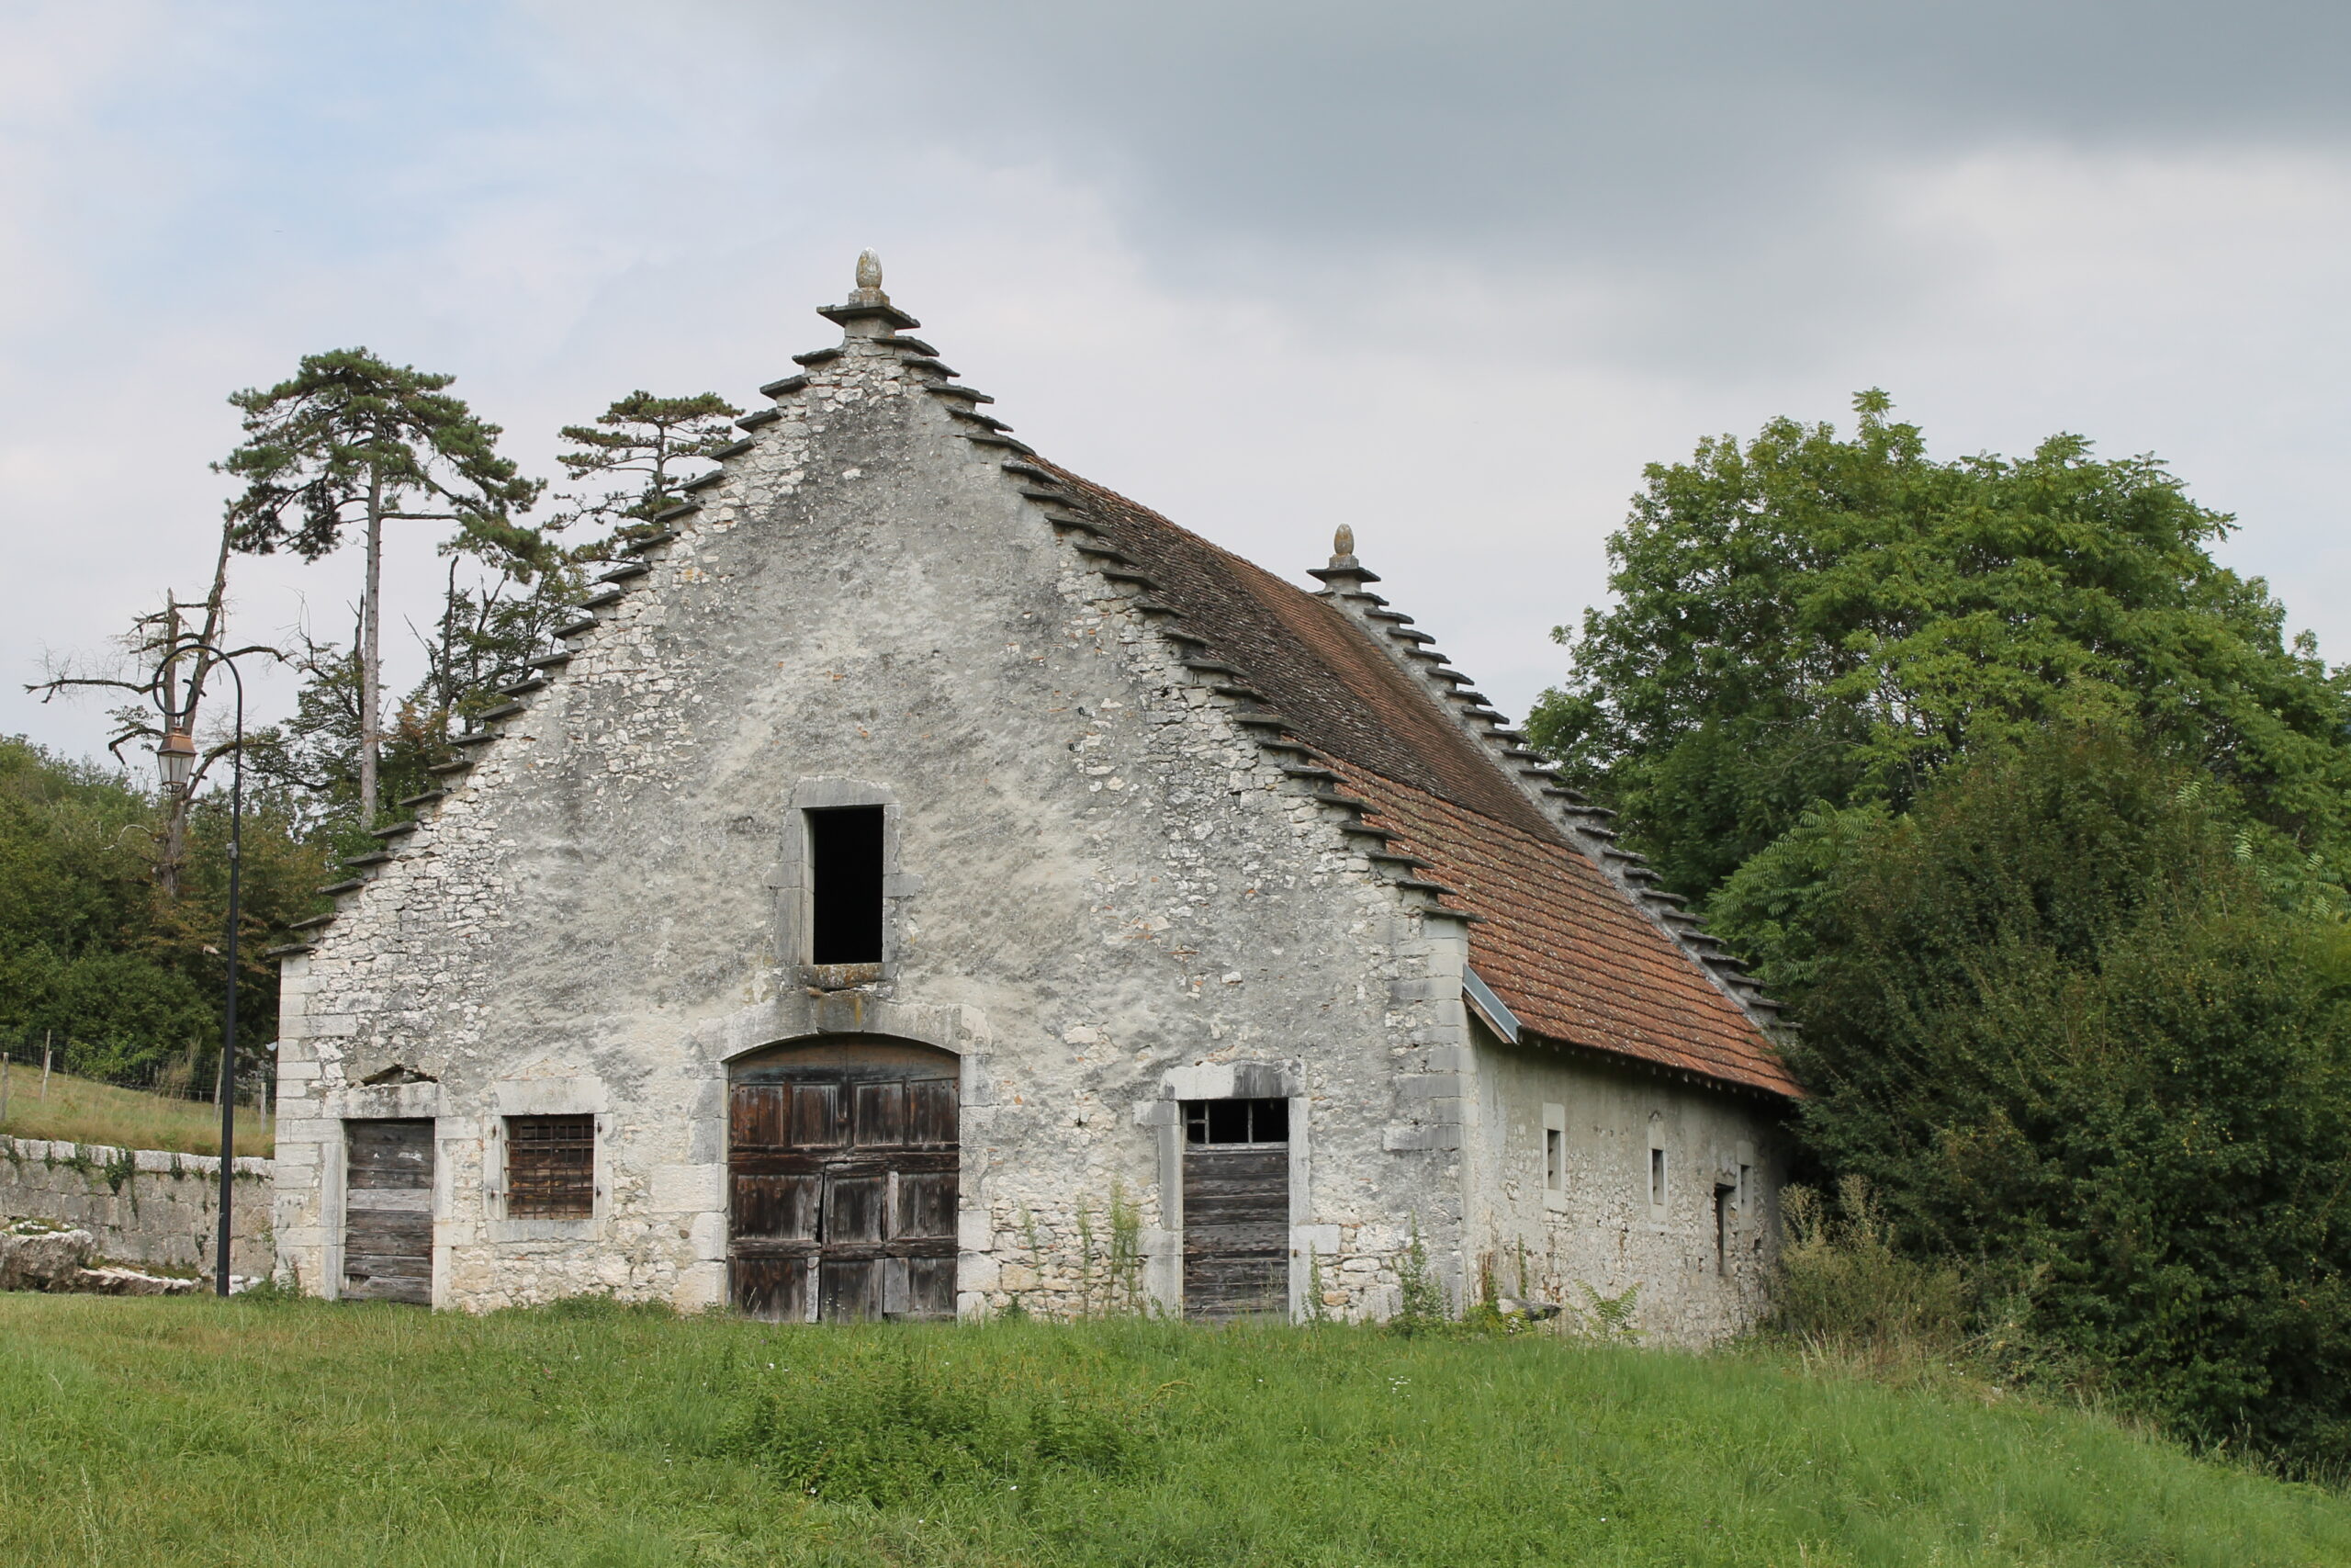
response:
<path fill-rule="evenodd" d="M 1286 1314 L 1291 1145 L 1279 1100 L 1185 1107 L 1183 1312 Z"/>

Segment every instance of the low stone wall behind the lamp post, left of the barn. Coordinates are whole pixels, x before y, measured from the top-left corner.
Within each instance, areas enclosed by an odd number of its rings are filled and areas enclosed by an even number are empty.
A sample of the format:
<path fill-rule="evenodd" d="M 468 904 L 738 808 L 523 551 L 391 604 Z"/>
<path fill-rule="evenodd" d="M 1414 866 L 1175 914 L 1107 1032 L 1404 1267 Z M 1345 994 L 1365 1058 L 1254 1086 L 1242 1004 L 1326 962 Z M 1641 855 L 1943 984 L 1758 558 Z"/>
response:
<path fill-rule="evenodd" d="M 268 1159 L 235 1166 L 233 1274 L 263 1276 L 275 1265 L 270 1173 Z M 0 1138 L 0 1218 L 87 1229 L 118 1262 L 209 1269 L 219 1190 L 212 1154 Z"/>

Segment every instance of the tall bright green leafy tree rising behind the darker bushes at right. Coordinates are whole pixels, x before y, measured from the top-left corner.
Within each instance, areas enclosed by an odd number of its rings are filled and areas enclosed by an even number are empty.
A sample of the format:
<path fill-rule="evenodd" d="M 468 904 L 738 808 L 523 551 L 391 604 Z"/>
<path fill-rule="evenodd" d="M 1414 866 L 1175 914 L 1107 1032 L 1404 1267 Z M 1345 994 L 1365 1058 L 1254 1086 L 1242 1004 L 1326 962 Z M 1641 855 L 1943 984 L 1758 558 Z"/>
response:
<path fill-rule="evenodd" d="M 1883 393 L 1855 407 L 1850 437 L 1782 418 L 1650 465 L 1608 541 L 1615 604 L 1554 632 L 1573 675 L 1528 731 L 1674 891 L 1707 896 L 1815 802 L 1900 809 L 2052 719 L 2130 719 L 2344 853 L 2346 682 L 2212 562 L 2226 515 L 2154 458 L 2059 435 L 1944 463 Z"/>

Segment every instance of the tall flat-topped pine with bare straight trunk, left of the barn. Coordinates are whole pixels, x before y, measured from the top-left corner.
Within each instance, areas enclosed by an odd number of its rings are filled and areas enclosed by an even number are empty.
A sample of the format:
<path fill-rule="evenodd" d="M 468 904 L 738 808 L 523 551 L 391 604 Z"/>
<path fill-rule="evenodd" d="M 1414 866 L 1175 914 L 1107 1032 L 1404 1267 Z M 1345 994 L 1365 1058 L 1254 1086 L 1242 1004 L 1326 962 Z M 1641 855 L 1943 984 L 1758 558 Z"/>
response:
<path fill-rule="evenodd" d="M 449 397 L 442 388 L 451 381 L 364 348 L 306 355 L 289 381 L 230 395 L 245 411 L 245 442 L 216 465 L 247 484 L 230 503 L 237 550 L 289 548 L 317 559 L 341 545 L 346 527 L 364 531 L 357 795 L 369 823 L 383 733 L 383 524 L 454 522 L 451 550 L 524 571 L 548 550 L 538 531 L 515 522 L 541 482 L 498 456 L 498 425 Z"/>

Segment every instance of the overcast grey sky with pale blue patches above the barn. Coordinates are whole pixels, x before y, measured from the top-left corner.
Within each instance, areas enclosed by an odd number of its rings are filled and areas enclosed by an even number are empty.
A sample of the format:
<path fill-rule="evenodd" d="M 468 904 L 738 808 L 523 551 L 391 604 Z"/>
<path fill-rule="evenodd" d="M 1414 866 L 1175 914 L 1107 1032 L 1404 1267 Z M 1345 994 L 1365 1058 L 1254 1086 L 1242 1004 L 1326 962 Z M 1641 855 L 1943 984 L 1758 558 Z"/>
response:
<path fill-rule="evenodd" d="M 367 346 L 545 475 L 755 407 L 868 244 L 1039 451 L 1295 581 L 1352 522 L 1514 715 L 1643 463 L 1864 386 L 2161 454 L 2344 661 L 2346 82 L 2342 0 L 0 0 L 0 733 L 103 743 L 21 686 L 202 590 L 230 390 Z"/>

